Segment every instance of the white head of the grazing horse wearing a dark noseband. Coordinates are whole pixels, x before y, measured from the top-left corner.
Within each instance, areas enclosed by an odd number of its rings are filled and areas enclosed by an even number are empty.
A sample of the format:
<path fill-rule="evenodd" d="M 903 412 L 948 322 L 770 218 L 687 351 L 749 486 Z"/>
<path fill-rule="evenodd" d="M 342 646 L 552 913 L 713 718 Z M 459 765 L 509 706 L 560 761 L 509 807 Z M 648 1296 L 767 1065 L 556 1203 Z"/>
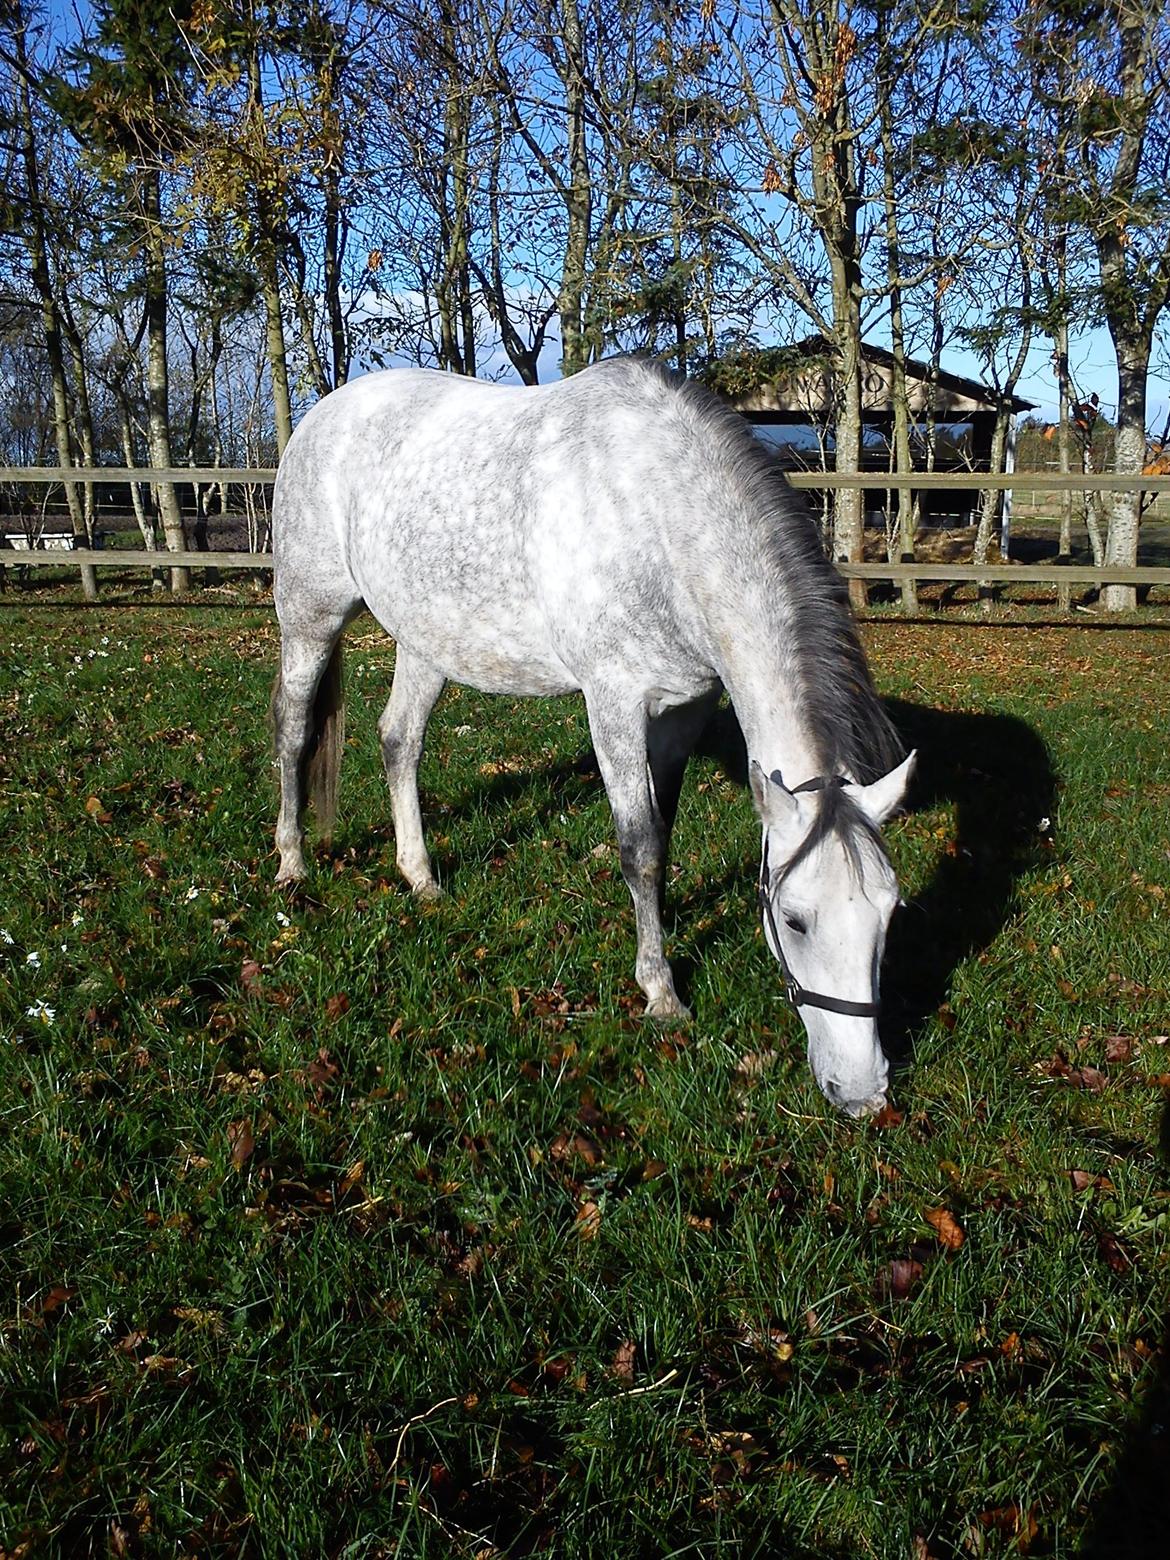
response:
<path fill-rule="evenodd" d="M 778 774 L 750 766 L 763 824 L 764 938 L 808 1031 L 821 1092 L 849 1115 L 886 1101 L 878 981 L 899 886 L 880 828 L 913 768 L 914 753 L 867 786 L 819 778 L 789 791 Z"/>

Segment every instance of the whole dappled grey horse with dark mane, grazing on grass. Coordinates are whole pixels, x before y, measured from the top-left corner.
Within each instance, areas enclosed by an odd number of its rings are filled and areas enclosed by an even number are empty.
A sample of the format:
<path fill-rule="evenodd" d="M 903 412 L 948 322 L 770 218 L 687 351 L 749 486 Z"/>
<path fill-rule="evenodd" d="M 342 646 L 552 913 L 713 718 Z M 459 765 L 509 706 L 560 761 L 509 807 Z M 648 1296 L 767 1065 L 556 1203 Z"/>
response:
<path fill-rule="evenodd" d="M 278 883 L 304 877 L 312 792 L 332 824 L 342 630 L 393 635 L 379 721 L 398 866 L 431 897 L 418 763 L 448 679 L 585 694 L 633 897 L 646 1011 L 686 1017 L 661 897 L 686 758 L 721 690 L 763 825 L 764 936 L 824 1094 L 878 1109 L 878 973 L 897 885 L 878 833 L 913 755 L 874 693 L 838 573 L 743 420 L 622 359 L 537 388 L 396 368 L 326 396 L 281 460 L 273 509 Z"/>

